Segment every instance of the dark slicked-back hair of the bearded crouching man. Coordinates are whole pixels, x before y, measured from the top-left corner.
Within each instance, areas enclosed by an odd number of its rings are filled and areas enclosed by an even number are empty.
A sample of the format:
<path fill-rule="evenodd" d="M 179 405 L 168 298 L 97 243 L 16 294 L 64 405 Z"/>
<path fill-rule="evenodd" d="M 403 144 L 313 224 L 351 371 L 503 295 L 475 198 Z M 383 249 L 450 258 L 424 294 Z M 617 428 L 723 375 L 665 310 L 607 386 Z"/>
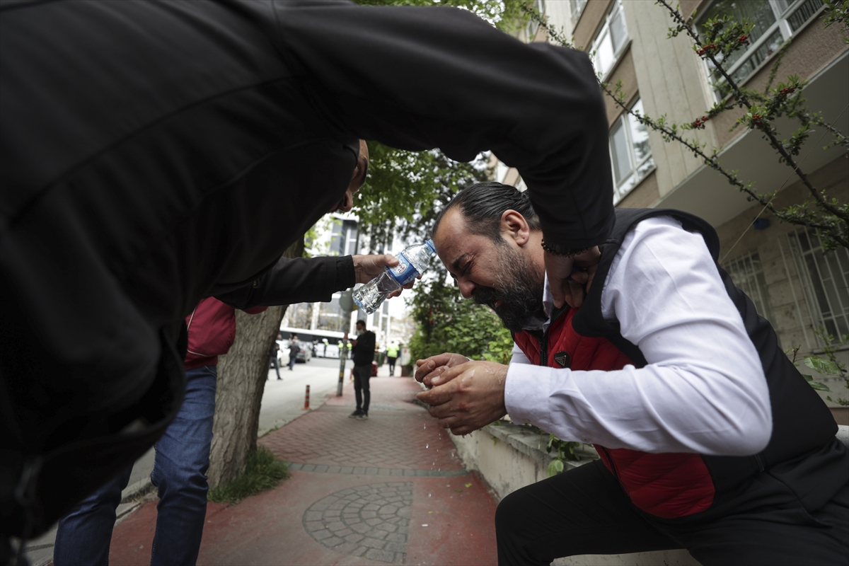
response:
<path fill-rule="evenodd" d="M 501 241 L 501 215 L 505 210 L 515 210 L 525 216 L 531 230 L 543 229 L 527 193 L 500 182 L 479 182 L 464 188 L 448 202 L 436 216 L 433 233 L 436 234 L 442 216 L 456 206 L 463 212 L 469 233 L 489 236 L 495 242 Z"/>

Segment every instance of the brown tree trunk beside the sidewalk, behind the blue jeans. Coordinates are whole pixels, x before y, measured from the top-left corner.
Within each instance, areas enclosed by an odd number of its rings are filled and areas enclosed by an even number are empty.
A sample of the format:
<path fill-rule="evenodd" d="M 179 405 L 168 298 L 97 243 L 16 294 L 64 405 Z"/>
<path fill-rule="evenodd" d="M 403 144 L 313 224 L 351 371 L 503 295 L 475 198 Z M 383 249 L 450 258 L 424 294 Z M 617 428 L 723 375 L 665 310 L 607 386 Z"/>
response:
<path fill-rule="evenodd" d="M 303 238 L 284 256 L 300 257 Z M 212 424 L 210 488 L 235 478 L 256 451 L 262 393 L 280 321 L 288 305 L 272 306 L 258 315 L 236 311 L 236 339 L 218 358 L 215 422 Z"/>

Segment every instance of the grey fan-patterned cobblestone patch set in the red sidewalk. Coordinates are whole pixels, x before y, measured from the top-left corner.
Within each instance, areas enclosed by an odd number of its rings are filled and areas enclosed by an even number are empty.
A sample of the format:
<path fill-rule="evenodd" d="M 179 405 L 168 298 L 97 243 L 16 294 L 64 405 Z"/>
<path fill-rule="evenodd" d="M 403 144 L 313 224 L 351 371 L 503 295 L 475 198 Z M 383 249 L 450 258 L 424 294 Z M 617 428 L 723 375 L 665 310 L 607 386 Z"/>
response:
<path fill-rule="evenodd" d="M 304 513 L 304 529 L 335 552 L 402 564 L 412 504 L 411 483 L 360 485 L 313 503 Z"/>

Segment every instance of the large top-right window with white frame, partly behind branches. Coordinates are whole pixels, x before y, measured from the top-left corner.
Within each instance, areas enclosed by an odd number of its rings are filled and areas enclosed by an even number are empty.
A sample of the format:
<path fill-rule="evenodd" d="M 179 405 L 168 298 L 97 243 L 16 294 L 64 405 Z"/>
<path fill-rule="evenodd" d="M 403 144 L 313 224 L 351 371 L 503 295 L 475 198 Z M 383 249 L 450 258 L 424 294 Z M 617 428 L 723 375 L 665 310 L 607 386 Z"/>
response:
<path fill-rule="evenodd" d="M 771 54 L 823 7 L 823 0 L 717 0 L 700 18 L 706 20 L 729 15 L 738 22 L 754 24 L 748 48 L 731 54 L 725 62 L 726 72 L 734 81 L 745 81 Z M 729 88 L 725 78 L 706 62 L 717 98 L 725 97 Z"/>

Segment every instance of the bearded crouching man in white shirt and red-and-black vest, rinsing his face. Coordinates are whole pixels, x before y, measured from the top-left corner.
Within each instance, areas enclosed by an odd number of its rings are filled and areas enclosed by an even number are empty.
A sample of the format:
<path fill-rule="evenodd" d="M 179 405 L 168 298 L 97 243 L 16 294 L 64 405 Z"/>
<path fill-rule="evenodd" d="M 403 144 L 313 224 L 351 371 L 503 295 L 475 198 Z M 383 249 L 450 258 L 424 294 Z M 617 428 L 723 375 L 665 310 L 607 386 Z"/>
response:
<path fill-rule="evenodd" d="M 706 565 L 845 563 L 849 456 L 835 421 L 717 266 L 705 221 L 616 210 L 580 309 L 554 307 L 537 214 L 512 187 L 465 189 L 433 239 L 515 345 L 506 367 L 418 361 L 430 414 L 466 434 L 509 413 L 599 451 L 504 498 L 499 563 L 674 548 Z"/>

